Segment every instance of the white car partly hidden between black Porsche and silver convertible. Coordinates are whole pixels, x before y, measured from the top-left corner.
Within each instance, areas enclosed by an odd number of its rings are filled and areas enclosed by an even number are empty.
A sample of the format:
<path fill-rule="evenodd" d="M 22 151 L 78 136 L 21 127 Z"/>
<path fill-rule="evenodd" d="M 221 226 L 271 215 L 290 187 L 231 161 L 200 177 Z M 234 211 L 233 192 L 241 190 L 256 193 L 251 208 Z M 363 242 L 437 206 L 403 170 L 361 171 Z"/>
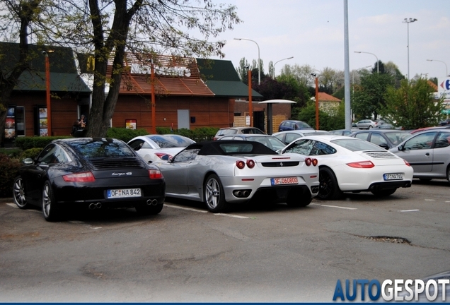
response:
<path fill-rule="evenodd" d="M 158 160 L 169 160 L 192 143 L 195 143 L 195 140 L 185 136 L 154 134 L 132 138 L 132 140 L 129 140 L 128 145 L 146 162 L 151 163 Z"/>

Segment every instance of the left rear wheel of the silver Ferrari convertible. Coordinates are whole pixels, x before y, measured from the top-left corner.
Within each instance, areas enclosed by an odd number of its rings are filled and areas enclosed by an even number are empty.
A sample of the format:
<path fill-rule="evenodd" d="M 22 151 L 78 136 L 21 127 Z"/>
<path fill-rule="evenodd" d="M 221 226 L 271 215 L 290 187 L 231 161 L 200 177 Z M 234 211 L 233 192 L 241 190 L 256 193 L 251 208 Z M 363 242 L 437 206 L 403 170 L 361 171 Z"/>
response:
<path fill-rule="evenodd" d="M 224 213 L 229 210 L 229 203 L 225 201 L 224 187 L 216 174 L 210 174 L 203 186 L 204 202 L 212 213 Z"/>

